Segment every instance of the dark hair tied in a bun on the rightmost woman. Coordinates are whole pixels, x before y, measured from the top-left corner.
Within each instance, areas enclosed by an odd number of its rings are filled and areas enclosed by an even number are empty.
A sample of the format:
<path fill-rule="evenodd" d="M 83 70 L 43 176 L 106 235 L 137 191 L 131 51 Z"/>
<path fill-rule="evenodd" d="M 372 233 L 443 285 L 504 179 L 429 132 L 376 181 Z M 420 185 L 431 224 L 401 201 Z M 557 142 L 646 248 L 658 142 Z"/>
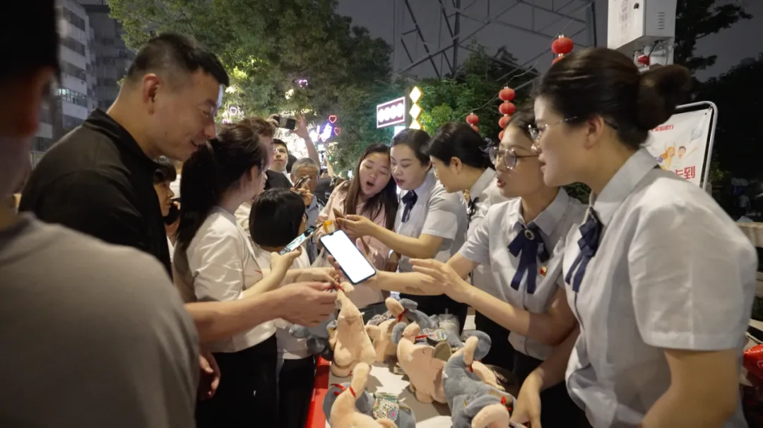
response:
<path fill-rule="evenodd" d="M 642 73 L 629 56 L 592 47 L 552 65 L 539 79 L 535 95 L 546 98 L 572 124 L 604 117 L 626 146 L 638 149 L 649 130 L 671 117 L 690 84 L 691 75 L 683 66 Z"/>

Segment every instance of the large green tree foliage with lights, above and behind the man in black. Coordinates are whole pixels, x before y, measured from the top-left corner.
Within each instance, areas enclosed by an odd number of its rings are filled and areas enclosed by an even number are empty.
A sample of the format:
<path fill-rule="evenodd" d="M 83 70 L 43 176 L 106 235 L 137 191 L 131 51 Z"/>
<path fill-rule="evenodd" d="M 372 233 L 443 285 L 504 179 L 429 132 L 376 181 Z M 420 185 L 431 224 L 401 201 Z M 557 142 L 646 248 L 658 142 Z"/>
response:
<path fill-rule="evenodd" d="M 217 53 L 231 77 L 225 102 L 246 114 L 309 111 L 313 117 L 343 117 L 334 158 L 378 138 L 361 122 L 375 114 L 369 105 L 389 88 L 391 46 L 336 14 L 336 0 L 110 0 L 109 5 L 132 49 L 152 34 L 174 31 Z"/>

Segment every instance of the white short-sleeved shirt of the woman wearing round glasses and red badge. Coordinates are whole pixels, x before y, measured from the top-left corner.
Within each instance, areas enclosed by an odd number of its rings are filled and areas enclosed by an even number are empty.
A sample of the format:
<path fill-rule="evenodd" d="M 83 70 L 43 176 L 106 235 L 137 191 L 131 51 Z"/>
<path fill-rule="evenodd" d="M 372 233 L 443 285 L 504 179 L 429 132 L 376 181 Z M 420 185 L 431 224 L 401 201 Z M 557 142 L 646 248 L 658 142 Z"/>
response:
<path fill-rule="evenodd" d="M 532 223 L 539 227 L 550 257 L 545 263 L 538 260 L 538 269 L 533 272 L 536 275 L 533 294 L 527 291 L 527 275 L 523 276 L 519 288 L 511 286 L 511 280 L 520 265 L 520 257 L 510 253 L 509 245 L 522 233 L 525 225 L 522 201 L 519 198 L 493 205 L 459 253 L 474 262 L 490 265 L 494 282 L 502 294 L 501 300 L 533 314 L 544 314 L 551 307 L 556 291 L 562 285 L 562 246 L 557 244 L 564 240 L 572 228 L 580 225 L 584 213 L 584 205 L 577 199 L 570 198 L 560 188 L 554 201 L 533 220 Z M 545 275 L 542 272 L 544 270 Z M 514 332 L 509 335 L 509 342 L 517 351 L 536 359 L 545 360 L 553 349 L 553 346 Z"/>

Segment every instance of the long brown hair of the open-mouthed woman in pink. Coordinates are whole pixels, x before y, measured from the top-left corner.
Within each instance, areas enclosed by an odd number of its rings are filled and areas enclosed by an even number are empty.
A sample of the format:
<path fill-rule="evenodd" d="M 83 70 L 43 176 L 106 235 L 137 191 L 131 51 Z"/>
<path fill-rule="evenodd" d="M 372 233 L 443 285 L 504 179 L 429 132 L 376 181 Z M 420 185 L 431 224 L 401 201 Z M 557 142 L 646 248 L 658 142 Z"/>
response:
<path fill-rule="evenodd" d="M 422 131 L 423 132 L 423 131 Z M 426 133 L 424 133 L 426 134 Z M 360 166 L 365 158 L 373 153 L 381 153 L 389 156 L 389 147 L 385 144 L 372 144 L 363 150 L 358 162 L 353 169 L 353 179 L 347 186 L 347 196 L 344 200 L 344 214 L 358 214 L 358 201 L 360 201 Z M 339 185 L 339 183 L 336 183 Z M 389 230 L 394 229 L 394 217 L 398 214 L 398 185 L 394 183 L 392 177 L 389 182 L 376 195 L 373 195 L 365 204 L 363 204 L 362 215 L 368 218 L 375 218 L 381 211 L 385 213 L 385 227 Z"/>

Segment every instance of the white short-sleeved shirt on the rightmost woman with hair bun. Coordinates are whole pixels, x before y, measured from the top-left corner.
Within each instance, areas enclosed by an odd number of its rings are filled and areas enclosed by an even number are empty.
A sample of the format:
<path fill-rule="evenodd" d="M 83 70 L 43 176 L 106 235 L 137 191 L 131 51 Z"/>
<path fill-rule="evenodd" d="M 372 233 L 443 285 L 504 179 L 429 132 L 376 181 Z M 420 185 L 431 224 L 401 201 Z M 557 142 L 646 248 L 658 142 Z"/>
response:
<path fill-rule="evenodd" d="M 591 199 L 604 230 L 578 292 L 567 285 L 581 326 L 567 388 L 594 428 L 641 422 L 670 386 L 662 349 L 741 358 L 746 342 L 755 249 L 707 193 L 655 166 L 639 150 Z M 565 273 L 580 238 L 566 240 Z M 741 407 L 725 426 L 746 426 Z"/>

